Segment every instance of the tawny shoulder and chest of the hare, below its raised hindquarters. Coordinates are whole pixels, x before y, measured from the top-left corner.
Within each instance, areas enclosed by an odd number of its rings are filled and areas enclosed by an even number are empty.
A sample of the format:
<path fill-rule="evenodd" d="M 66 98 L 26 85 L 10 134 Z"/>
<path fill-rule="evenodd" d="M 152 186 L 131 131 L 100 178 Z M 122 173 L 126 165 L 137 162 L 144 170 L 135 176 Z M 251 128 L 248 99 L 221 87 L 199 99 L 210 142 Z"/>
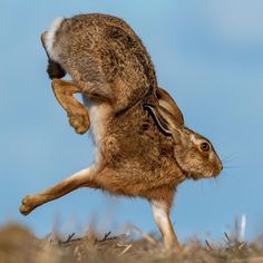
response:
<path fill-rule="evenodd" d="M 174 158 L 174 140 L 160 133 L 143 101 L 119 116 L 108 116 L 104 125 L 96 164 L 107 171 L 97 175 L 101 188 L 148 199 L 162 188 L 166 196 L 167 191 L 174 193 L 185 178 Z"/>

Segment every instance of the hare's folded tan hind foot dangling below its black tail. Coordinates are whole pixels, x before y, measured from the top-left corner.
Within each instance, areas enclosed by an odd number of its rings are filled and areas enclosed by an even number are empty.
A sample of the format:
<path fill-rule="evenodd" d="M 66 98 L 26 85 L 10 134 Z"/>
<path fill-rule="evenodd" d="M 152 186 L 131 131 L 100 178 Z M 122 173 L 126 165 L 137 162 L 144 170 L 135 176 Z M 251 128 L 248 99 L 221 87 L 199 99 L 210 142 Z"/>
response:
<path fill-rule="evenodd" d="M 89 128 L 88 110 L 74 97 L 75 94 L 81 92 L 81 90 L 71 81 L 61 79 L 52 80 L 52 89 L 57 100 L 67 111 L 69 124 L 76 133 L 85 134 Z"/>

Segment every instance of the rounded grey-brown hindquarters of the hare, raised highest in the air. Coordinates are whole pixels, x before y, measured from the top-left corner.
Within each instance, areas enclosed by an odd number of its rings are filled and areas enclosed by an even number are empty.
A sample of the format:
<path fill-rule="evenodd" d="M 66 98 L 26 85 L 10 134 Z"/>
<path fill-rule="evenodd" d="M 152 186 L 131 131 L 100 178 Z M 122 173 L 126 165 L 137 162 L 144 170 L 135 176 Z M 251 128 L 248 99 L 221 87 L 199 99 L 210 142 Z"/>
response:
<path fill-rule="evenodd" d="M 74 80 L 109 84 L 117 103 L 127 100 L 124 107 L 157 87 L 146 48 L 119 18 L 80 14 L 65 19 L 57 39 L 60 62 Z"/>

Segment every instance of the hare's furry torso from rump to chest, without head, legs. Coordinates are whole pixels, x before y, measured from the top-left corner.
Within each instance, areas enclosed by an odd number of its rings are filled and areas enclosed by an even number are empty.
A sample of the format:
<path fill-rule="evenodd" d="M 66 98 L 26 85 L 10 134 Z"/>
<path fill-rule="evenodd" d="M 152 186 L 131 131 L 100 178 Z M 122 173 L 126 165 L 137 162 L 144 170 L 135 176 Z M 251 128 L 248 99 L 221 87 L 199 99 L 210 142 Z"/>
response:
<path fill-rule="evenodd" d="M 184 176 L 173 156 L 173 138 L 158 130 L 143 107 L 146 101 L 157 103 L 157 80 L 140 39 L 111 16 L 58 21 L 57 30 L 48 32 L 47 39 L 53 40 L 47 42 L 48 51 L 87 99 L 96 166 L 107 167 L 107 176 L 98 175 L 100 187 L 144 197 L 159 187 L 174 192 Z"/>

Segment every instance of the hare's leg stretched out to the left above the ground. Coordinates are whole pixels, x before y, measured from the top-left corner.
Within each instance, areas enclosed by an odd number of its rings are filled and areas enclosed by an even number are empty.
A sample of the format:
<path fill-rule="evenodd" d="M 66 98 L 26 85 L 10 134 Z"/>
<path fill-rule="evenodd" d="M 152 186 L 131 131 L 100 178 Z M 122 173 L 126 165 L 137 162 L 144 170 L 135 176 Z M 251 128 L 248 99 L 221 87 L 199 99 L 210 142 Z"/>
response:
<path fill-rule="evenodd" d="M 30 212 L 32 212 L 36 207 L 52 199 L 57 199 L 82 186 L 99 188 L 99 185 L 95 179 L 95 175 L 96 175 L 96 169 L 94 167 L 89 167 L 71 175 L 69 178 L 60 182 L 59 184 L 41 193 L 26 196 L 22 199 L 22 204 L 20 206 L 20 213 L 27 215 Z"/>

